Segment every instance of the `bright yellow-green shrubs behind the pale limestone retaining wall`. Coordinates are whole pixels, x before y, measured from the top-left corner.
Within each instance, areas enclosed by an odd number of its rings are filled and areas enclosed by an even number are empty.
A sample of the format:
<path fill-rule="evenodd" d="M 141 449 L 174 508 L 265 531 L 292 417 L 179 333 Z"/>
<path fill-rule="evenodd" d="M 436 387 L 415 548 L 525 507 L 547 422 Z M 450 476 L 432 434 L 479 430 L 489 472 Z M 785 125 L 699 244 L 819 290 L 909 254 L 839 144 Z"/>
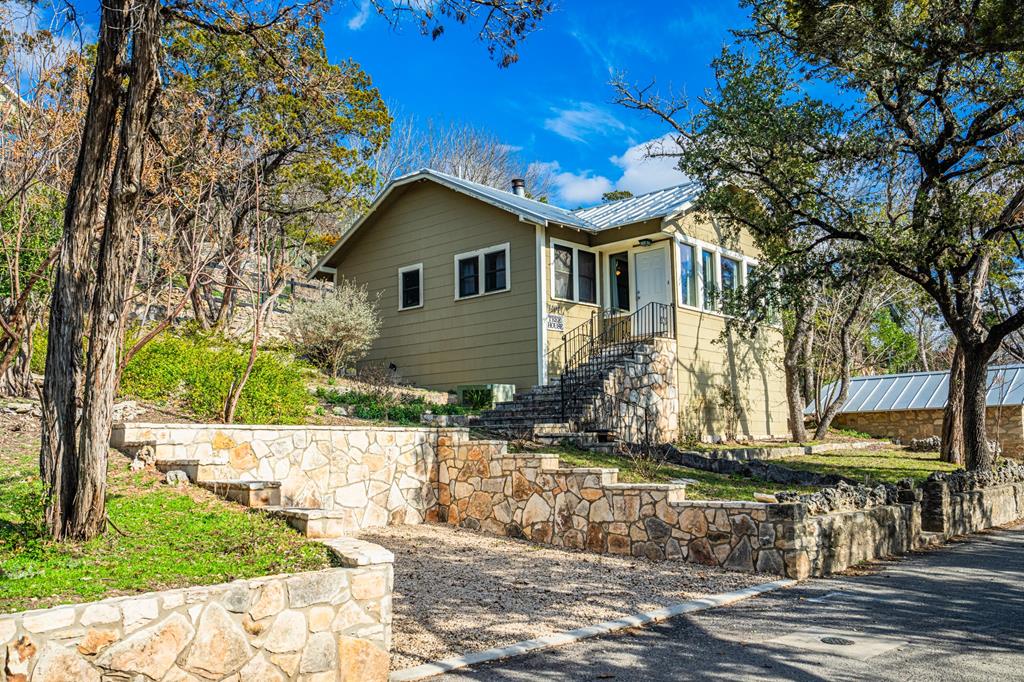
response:
<path fill-rule="evenodd" d="M 121 392 L 143 400 L 180 402 L 201 419 L 219 419 L 247 351 L 210 334 L 165 334 L 125 368 Z M 242 392 L 238 421 L 300 424 L 313 402 L 303 366 L 286 353 L 262 351 Z"/>

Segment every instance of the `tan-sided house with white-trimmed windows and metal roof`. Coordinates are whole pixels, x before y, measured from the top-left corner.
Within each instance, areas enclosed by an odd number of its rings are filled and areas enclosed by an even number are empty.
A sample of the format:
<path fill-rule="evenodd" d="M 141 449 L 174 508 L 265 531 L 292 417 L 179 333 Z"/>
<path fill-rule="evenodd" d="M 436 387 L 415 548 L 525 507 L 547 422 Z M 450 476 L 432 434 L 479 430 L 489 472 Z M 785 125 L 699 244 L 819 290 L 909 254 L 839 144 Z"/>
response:
<path fill-rule="evenodd" d="M 783 434 L 780 330 L 723 336 L 717 309 L 757 249 L 699 221 L 693 198 L 682 184 L 570 211 L 527 198 L 521 180 L 503 191 L 423 169 L 388 184 L 312 274 L 380 293 L 368 361 L 439 390 L 552 386 L 609 321 L 636 332 L 655 314 L 674 339 L 673 421 L 701 437 Z"/>

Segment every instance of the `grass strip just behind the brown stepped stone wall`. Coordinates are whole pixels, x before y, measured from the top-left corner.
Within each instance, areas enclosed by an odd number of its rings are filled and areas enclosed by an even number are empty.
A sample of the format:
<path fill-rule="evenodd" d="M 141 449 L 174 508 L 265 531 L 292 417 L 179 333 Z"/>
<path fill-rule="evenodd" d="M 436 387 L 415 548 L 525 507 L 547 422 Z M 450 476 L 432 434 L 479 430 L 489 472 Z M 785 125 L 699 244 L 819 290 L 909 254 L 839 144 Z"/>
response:
<path fill-rule="evenodd" d="M 690 469 L 675 464 L 657 465 L 652 475 L 643 475 L 637 470 L 636 463 L 628 457 L 591 453 L 573 447 L 545 449 L 545 452 L 557 453 L 558 458 L 575 467 L 609 467 L 618 469 L 618 480 L 624 483 L 665 483 L 675 478 L 690 478 L 696 483 L 686 486 L 686 497 L 689 500 L 742 500 L 753 501 L 755 493 L 778 493 L 780 491 L 799 491 L 813 493 L 814 487 L 795 487 L 768 483 L 743 476 L 726 476 L 723 474 Z"/>

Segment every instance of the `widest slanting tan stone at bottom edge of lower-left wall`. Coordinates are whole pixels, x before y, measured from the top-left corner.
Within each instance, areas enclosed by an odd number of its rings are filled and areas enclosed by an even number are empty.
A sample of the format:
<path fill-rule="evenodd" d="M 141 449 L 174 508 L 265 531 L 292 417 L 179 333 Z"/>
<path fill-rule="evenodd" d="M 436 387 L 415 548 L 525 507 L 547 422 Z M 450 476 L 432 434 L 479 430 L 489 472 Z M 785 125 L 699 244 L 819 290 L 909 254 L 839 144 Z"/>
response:
<path fill-rule="evenodd" d="M 96 665 L 111 673 L 139 674 L 162 679 L 174 665 L 196 629 L 180 613 L 140 630 L 99 654 Z"/>

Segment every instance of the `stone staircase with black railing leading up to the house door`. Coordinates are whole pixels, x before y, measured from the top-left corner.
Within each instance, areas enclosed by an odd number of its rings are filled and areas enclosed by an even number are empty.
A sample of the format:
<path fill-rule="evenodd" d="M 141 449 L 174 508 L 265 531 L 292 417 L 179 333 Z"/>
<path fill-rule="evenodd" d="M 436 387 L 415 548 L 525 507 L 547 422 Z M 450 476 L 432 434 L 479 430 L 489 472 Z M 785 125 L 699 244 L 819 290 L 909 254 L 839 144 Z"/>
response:
<path fill-rule="evenodd" d="M 548 384 L 516 391 L 513 399 L 499 402 L 476 416 L 470 425 L 503 437 L 554 444 L 563 441 L 581 447 L 613 451 L 618 443 L 607 430 L 584 425 L 595 411 L 595 402 L 606 394 L 605 384 L 623 372 L 637 353 L 650 351 L 643 342 L 615 344 L 602 350 L 600 363 L 587 360 Z M 583 381 L 581 381 L 583 379 Z M 562 412 L 562 382 L 577 386 L 574 398 Z"/>

